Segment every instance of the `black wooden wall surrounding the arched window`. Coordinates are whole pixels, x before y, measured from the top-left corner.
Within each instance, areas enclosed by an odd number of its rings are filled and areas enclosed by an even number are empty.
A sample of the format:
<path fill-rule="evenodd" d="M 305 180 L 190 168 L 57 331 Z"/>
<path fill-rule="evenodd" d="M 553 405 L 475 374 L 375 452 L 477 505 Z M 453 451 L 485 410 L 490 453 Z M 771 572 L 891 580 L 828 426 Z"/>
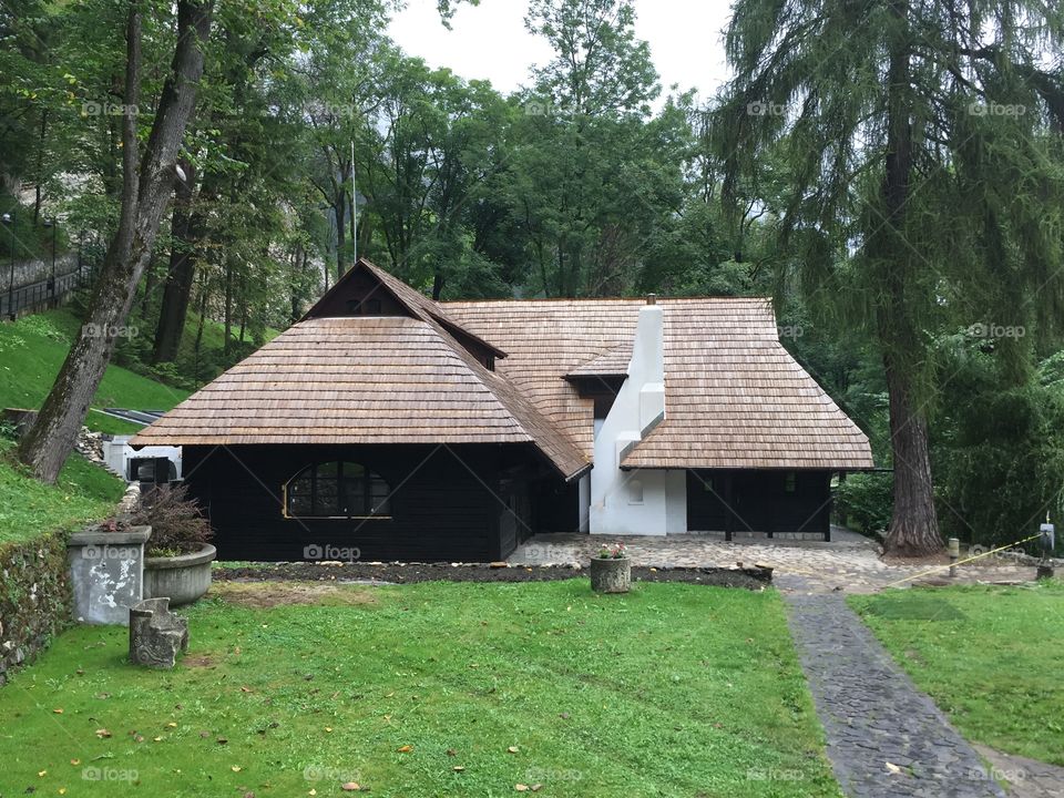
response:
<path fill-rule="evenodd" d="M 224 560 L 301 561 L 309 545 L 357 546 L 362 561 L 488 562 L 512 551 L 502 540 L 509 495 L 531 451 L 514 446 L 231 446 L 184 447 L 190 492 L 211 518 Z M 282 485 L 314 462 L 350 460 L 393 491 L 390 519 L 288 519 Z M 501 468 L 509 480 L 500 484 Z"/>

